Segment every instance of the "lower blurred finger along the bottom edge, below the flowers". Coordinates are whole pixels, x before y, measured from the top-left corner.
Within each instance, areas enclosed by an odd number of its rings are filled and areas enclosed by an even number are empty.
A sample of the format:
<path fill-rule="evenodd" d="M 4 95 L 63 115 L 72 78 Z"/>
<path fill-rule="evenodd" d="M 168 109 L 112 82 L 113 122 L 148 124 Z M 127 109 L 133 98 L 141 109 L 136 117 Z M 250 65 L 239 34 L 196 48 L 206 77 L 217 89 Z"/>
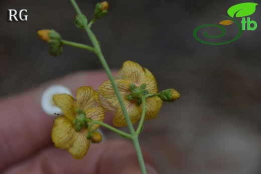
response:
<path fill-rule="evenodd" d="M 148 151 L 143 150 L 143 156 L 148 174 L 158 173 Z M 138 174 L 141 169 L 130 141 L 109 140 L 92 144 L 86 156 L 80 160 L 74 159 L 66 150 L 51 147 L 24 163 L 10 167 L 3 174 L 16 173 Z"/>

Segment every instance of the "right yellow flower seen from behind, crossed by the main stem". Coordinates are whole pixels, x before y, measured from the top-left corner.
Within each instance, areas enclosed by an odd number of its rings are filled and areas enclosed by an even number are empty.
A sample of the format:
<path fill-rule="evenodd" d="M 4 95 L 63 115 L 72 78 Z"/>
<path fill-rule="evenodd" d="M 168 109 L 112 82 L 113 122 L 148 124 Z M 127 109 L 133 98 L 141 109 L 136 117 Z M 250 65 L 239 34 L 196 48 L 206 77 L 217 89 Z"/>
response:
<path fill-rule="evenodd" d="M 138 63 L 126 61 L 116 75 L 115 83 L 123 99 L 129 118 L 136 123 L 142 115 L 141 96 L 158 92 L 157 82 L 152 73 Z M 106 81 L 98 88 L 102 106 L 114 114 L 115 126 L 126 126 L 127 123 L 118 103 L 110 81 Z M 155 118 L 160 111 L 163 101 L 157 97 L 146 98 L 145 120 Z"/>

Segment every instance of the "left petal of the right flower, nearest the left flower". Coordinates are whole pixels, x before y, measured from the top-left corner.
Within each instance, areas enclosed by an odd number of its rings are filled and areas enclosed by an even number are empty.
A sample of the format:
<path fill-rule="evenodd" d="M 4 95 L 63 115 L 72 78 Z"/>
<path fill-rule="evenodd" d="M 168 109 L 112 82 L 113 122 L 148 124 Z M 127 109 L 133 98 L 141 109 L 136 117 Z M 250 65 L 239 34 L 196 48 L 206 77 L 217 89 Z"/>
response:
<path fill-rule="evenodd" d="M 122 98 L 125 98 L 127 94 L 131 93 L 131 90 L 129 90 L 130 83 L 128 81 L 116 79 L 115 83 Z M 111 82 L 106 81 L 102 83 L 98 88 L 98 92 L 100 94 L 101 105 L 111 113 L 115 113 L 118 107 L 118 99 Z"/>

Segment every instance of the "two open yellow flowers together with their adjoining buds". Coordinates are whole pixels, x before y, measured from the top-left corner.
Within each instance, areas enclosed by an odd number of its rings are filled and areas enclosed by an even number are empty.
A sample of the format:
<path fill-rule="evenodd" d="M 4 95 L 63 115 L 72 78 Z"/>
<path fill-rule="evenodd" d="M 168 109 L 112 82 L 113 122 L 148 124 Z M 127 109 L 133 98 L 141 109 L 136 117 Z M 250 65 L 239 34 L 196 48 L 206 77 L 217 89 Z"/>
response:
<path fill-rule="evenodd" d="M 123 63 L 114 80 L 132 124 L 142 116 L 142 97 L 146 97 L 145 120 L 157 116 L 163 101 L 173 102 L 180 97 L 174 89 L 158 93 L 157 82 L 152 73 L 132 61 Z M 101 135 L 96 131 L 99 124 L 93 124 L 93 120 L 103 121 L 103 108 L 114 114 L 115 126 L 127 125 L 110 81 L 102 83 L 97 91 L 88 86 L 78 88 L 76 100 L 68 94 L 54 95 L 53 100 L 64 113 L 64 116 L 59 116 L 54 121 L 54 145 L 67 149 L 77 159 L 86 154 L 90 140 L 100 141 Z"/>

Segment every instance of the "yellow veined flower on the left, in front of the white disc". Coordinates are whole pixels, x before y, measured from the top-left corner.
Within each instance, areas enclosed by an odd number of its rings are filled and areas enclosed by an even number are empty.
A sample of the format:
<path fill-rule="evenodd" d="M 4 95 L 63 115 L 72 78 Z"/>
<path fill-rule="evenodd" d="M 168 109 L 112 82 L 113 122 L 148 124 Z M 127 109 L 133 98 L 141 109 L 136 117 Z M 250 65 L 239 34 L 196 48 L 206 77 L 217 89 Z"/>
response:
<path fill-rule="evenodd" d="M 99 127 L 94 124 L 91 128 L 85 118 L 103 121 L 104 109 L 100 107 L 99 96 L 90 86 L 78 88 L 76 100 L 68 94 L 56 94 L 53 101 L 64 113 L 55 119 L 52 129 L 52 140 L 58 148 L 67 149 L 74 158 L 82 158 L 88 151 L 90 140 L 87 139 L 89 130 Z M 84 123 L 84 125 L 82 124 Z"/>

